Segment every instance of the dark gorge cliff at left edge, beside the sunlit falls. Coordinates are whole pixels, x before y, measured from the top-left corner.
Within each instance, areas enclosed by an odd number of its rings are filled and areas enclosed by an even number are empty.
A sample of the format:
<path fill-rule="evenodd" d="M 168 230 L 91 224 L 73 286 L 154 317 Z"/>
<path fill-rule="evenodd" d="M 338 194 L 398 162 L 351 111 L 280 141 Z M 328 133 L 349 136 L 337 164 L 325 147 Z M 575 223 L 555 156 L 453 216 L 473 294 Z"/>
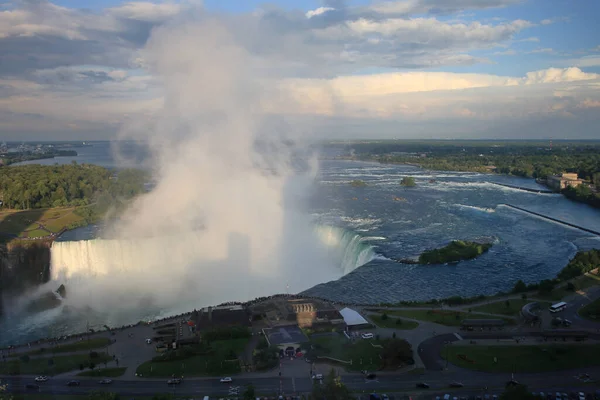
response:
<path fill-rule="evenodd" d="M 0 245 L 0 314 L 3 299 L 48 282 L 51 245 L 49 240 Z"/>

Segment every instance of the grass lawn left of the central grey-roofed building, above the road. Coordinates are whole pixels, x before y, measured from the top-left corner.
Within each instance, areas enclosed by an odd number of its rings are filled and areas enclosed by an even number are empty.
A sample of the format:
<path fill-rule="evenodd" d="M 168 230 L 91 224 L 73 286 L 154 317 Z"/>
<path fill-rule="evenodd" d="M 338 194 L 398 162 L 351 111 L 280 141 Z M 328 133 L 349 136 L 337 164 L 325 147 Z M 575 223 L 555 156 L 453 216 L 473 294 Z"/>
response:
<path fill-rule="evenodd" d="M 141 364 L 136 373 L 144 378 L 166 378 L 176 376 L 219 376 L 240 372 L 240 363 L 225 361 L 231 359 L 231 352 L 241 354 L 246 348 L 248 338 L 232 340 L 216 340 L 211 343 L 213 353 L 196 355 L 183 360 L 146 361 Z"/>

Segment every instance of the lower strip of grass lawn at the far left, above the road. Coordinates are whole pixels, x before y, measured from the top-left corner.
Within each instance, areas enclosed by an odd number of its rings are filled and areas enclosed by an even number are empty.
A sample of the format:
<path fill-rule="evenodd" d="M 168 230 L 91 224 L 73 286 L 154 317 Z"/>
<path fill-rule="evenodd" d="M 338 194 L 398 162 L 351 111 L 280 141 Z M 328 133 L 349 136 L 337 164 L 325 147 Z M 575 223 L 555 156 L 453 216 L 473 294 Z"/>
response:
<path fill-rule="evenodd" d="M 53 364 L 52 361 L 53 360 Z M 99 365 L 104 361 L 112 361 L 106 353 L 98 353 L 98 357 L 90 359 L 89 354 L 73 354 L 70 356 L 38 357 L 25 362 L 20 358 L 0 363 L 0 375 L 56 375 L 79 369 L 81 364 L 87 366 L 90 361 Z M 49 362 L 51 364 L 49 364 Z"/>

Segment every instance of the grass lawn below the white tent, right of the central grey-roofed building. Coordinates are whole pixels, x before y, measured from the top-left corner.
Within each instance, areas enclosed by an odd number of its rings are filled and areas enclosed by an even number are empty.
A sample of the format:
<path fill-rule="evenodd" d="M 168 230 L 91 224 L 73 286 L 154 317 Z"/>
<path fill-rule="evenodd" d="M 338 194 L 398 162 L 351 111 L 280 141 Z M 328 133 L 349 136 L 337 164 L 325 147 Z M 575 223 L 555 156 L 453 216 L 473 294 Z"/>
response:
<path fill-rule="evenodd" d="M 313 360 L 317 360 L 318 356 L 327 356 L 338 360 L 352 361 L 352 365 L 340 363 L 349 371 L 363 369 L 377 371 L 381 368 L 381 359 L 379 358 L 381 348 L 373 347 L 380 343 L 375 339 L 359 339 L 351 342 L 343 335 L 329 335 L 313 336 L 310 341 L 315 349 L 309 352 L 308 357 Z"/>

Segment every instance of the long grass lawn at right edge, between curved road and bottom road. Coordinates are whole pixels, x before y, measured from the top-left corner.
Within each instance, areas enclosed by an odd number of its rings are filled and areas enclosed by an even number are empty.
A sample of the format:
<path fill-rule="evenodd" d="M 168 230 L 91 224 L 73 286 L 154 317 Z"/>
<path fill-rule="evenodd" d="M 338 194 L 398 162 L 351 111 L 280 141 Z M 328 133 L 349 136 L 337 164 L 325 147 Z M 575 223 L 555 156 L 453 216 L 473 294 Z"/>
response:
<path fill-rule="evenodd" d="M 600 365 L 600 345 L 446 346 L 442 357 L 486 372 L 545 372 Z M 459 355 L 461 357 L 459 357 Z M 494 363 L 494 357 L 497 362 Z"/>

